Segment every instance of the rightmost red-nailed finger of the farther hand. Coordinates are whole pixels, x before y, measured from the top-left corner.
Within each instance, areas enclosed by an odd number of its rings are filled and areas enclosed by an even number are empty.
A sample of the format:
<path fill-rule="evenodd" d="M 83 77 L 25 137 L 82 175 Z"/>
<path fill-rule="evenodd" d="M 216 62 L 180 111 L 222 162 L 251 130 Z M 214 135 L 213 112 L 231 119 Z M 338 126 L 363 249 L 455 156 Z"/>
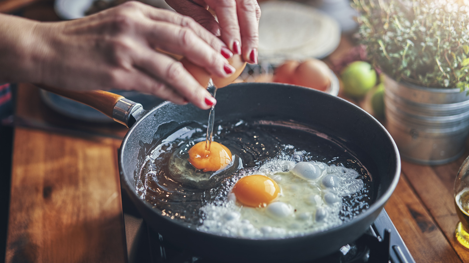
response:
<path fill-rule="evenodd" d="M 257 0 L 236 0 L 236 9 L 241 31 L 242 58 L 246 62 L 257 64 L 261 9 Z"/>

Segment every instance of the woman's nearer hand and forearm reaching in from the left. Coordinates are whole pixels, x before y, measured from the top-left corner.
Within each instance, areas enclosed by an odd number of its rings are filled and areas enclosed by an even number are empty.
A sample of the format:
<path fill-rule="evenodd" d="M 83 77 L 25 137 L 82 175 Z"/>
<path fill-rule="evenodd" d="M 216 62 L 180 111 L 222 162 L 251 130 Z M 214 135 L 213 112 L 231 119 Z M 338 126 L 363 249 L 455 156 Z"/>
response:
<path fill-rule="evenodd" d="M 212 75 L 234 72 L 226 59 L 233 54 L 192 18 L 135 1 L 66 22 L 0 15 L 0 39 L 0 61 L 7 62 L 0 63 L 0 82 L 137 90 L 208 109 L 215 99 L 180 62 L 155 50 L 182 55 Z"/>

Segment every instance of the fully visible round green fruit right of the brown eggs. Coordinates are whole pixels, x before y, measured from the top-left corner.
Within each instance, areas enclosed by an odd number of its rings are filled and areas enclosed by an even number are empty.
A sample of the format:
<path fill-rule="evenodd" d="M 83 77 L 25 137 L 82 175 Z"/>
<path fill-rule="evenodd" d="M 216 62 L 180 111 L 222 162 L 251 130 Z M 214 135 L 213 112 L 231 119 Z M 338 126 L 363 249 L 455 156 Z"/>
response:
<path fill-rule="evenodd" d="M 344 84 L 344 92 L 352 98 L 362 98 L 376 85 L 376 72 L 365 61 L 350 63 L 340 75 Z"/>

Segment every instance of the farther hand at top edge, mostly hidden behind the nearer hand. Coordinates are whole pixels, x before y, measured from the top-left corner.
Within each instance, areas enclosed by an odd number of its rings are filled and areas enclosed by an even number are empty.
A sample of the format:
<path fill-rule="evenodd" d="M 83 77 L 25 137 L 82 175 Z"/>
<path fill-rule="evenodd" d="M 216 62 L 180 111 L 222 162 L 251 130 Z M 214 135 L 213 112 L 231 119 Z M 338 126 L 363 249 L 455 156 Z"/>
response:
<path fill-rule="evenodd" d="M 259 19 L 257 0 L 166 0 L 178 13 L 194 18 L 246 62 L 257 64 Z M 211 7 L 218 21 L 207 10 Z M 241 42 L 240 42 L 241 41 Z"/>

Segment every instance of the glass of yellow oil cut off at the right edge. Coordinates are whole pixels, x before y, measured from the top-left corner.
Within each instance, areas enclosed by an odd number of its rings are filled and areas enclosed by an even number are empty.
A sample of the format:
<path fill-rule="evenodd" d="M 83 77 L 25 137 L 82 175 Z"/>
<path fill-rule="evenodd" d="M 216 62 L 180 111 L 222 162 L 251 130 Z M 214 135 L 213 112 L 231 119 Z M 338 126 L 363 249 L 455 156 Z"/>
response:
<path fill-rule="evenodd" d="M 461 245 L 469 248 L 469 156 L 454 181 L 454 206 L 460 220 L 454 234 Z"/>

